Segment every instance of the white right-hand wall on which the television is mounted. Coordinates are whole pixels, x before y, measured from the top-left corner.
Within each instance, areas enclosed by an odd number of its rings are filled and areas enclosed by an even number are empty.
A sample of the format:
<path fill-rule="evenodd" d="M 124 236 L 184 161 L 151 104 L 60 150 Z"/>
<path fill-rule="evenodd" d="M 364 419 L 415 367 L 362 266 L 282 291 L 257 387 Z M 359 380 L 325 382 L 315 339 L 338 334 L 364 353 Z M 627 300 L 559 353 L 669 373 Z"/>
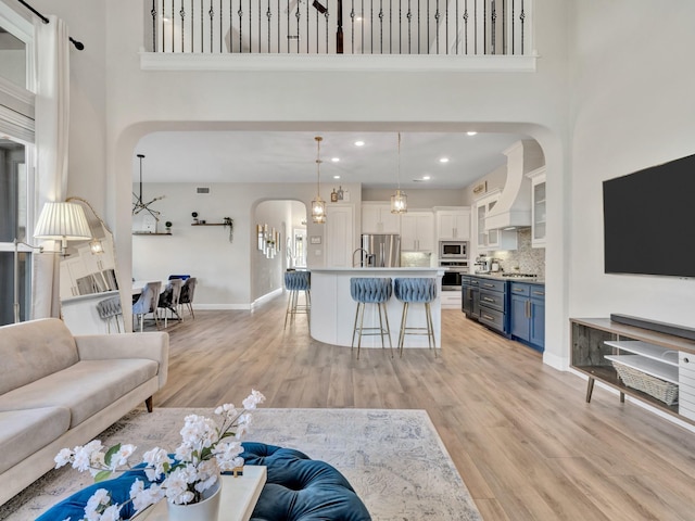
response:
<path fill-rule="evenodd" d="M 602 209 L 603 180 L 695 152 L 695 2 L 572 5 L 570 315 L 619 313 L 695 327 L 694 280 L 604 274 Z M 664 223 L 684 234 L 692 225 Z M 664 254 L 692 255 L 679 246 Z"/>

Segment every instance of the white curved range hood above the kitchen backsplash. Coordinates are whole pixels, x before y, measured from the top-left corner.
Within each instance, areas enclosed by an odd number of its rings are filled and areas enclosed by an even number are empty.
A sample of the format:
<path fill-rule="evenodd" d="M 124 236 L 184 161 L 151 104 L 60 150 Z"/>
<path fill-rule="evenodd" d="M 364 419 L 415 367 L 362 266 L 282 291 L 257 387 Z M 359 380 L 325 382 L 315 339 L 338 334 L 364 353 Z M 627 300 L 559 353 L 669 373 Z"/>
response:
<path fill-rule="evenodd" d="M 507 180 L 497 203 L 485 216 L 485 230 L 531 226 L 531 180 L 526 174 L 545 164 L 543 150 L 533 139 L 521 140 L 504 151 Z"/>

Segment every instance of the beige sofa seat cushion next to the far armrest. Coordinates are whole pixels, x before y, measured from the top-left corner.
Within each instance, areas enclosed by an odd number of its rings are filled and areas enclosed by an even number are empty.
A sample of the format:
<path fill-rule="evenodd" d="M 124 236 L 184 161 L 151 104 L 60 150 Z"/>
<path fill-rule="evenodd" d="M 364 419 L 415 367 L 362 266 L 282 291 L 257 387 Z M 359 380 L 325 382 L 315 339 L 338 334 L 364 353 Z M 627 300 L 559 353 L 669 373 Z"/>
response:
<path fill-rule="evenodd" d="M 71 429 L 156 377 L 159 364 L 144 358 L 84 360 L 0 395 L 0 410 L 62 406 Z"/>

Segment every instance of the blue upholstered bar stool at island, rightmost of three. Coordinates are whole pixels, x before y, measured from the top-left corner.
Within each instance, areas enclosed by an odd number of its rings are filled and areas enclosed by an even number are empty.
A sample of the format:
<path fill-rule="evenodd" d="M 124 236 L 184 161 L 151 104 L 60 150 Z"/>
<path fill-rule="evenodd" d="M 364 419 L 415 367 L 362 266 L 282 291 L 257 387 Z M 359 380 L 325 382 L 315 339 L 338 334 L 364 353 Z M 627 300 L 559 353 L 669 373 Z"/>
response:
<path fill-rule="evenodd" d="M 403 303 L 403 314 L 401 315 L 401 332 L 399 334 L 399 352 L 403 357 L 403 342 L 406 334 L 427 334 L 427 343 L 434 348 L 437 356 L 437 345 L 434 341 L 434 326 L 432 325 L 432 309 L 430 303 L 437 297 L 437 279 L 432 278 L 399 278 L 393 281 L 393 293 Z M 425 304 L 425 318 L 427 327 L 408 327 L 408 307 L 410 304 Z"/>

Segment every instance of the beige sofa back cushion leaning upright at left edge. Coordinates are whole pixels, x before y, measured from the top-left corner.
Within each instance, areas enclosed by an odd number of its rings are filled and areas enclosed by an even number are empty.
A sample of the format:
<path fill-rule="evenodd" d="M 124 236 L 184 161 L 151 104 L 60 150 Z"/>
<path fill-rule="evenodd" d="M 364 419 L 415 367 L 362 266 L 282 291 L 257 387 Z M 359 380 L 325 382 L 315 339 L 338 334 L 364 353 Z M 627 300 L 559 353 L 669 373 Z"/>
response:
<path fill-rule="evenodd" d="M 0 327 L 0 394 L 65 369 L 78 360 L 70 329 L 58 318 Z"/>

